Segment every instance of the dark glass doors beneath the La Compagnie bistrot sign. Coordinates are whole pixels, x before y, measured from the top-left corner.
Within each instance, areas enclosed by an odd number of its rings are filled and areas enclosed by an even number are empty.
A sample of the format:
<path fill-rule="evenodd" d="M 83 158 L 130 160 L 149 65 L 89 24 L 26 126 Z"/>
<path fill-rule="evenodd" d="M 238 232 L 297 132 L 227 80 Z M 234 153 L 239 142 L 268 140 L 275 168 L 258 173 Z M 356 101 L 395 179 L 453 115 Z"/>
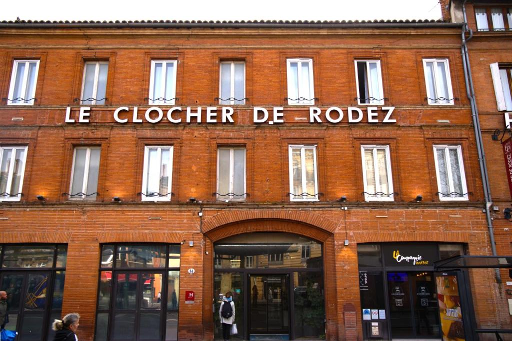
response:
<path fill-rule="evenodd" d="M 439 337 L 439 311 L 432 272 L 388 272 L 393 338 Z"/>

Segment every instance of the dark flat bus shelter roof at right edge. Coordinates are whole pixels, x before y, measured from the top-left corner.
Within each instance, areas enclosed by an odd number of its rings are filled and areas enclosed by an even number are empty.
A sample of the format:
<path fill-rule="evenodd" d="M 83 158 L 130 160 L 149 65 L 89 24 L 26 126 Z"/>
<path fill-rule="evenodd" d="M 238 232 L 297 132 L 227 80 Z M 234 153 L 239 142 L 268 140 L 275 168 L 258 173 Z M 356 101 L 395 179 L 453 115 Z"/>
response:
<path fill-rule="evenodd" d="M 434 269 L 512 268 L 512 256 L 455 256 L 434 262 Z"/>

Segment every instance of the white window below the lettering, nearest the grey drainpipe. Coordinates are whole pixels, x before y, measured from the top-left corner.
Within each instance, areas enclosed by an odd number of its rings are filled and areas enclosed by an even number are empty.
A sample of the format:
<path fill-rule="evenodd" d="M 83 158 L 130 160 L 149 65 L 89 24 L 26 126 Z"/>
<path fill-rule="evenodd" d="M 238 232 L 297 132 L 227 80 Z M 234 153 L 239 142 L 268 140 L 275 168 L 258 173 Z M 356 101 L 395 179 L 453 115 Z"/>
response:
<path fill-rule="evenodd" d="M 460 146 L 435 145 L 437 188 L 440 200 L 467 200 Z"/>

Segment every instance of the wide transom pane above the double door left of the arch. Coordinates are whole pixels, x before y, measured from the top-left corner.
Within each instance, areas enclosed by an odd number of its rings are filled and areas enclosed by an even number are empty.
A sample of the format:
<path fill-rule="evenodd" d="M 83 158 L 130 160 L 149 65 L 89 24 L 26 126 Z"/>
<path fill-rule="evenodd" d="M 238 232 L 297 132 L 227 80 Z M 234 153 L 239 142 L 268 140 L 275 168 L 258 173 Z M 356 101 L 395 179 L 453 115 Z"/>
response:
<path fill-rule="evenodd" d="M 165 267 L 165 245 L 118 245 L 116 267 Z"/>

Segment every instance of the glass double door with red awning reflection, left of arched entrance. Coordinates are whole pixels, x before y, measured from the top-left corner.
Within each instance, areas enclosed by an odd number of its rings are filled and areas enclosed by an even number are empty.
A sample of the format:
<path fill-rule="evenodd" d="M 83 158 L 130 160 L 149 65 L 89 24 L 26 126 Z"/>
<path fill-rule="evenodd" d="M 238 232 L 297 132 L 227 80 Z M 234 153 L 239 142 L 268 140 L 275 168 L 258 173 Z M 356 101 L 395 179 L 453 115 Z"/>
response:
<path fill-rule="evenodd" d="M 163 272 L 115 273 L 110 339 L 160 341 L 162 339 Z"/>

